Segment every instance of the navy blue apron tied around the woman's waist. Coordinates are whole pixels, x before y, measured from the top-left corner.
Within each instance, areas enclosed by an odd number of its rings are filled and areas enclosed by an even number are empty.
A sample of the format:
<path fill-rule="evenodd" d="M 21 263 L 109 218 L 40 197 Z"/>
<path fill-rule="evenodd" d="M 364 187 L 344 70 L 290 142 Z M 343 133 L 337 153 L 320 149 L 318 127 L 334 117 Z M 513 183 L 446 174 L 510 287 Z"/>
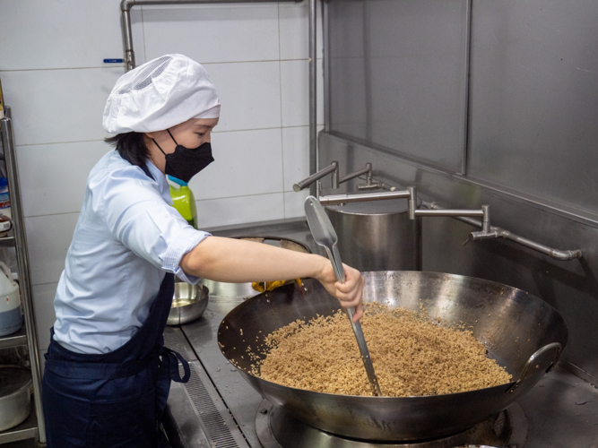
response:
<path fill-rule="evenodd" d="M 152 177 L 147 167 L 141 168 Z M 51 330 L 42 383 L 48 448 L 169 446 L 160 418 L 170 380 L 186 383 L 190 374 L 186 360 L 164 347 L 173 294 L 174 274 L 167 273 L 147 321 L 109 353 L 74 353 L 58 344 Z"/>

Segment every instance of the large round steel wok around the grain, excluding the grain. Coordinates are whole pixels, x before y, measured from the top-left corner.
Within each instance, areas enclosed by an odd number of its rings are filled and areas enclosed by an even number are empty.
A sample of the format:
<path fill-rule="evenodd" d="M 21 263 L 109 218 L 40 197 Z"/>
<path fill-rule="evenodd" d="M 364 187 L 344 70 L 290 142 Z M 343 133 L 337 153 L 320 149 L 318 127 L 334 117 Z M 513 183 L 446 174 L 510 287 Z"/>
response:
<path fill-rule="evenodd" d="M 316 280 L 248 299 L 222 321 L 218 340 L 223 355 L 266 400 L 324 431 L 366 440 L 409 441 L 451 435 L 506 409 L 528 392 L 559 357 L 568 331 L 550 305 L 526 292 L 489 280 L 419 271 L 365 272 L 364 302 L 420 310 L 444 323 L 462 321 L 514 382 L 472 392 L 422 397 L 360 397 L 299 390 L 249 374 L 247 346 L 296 319 L 333 314 L 339 309 Z M 242 330 L 242 331 L 241 331 Z M 348 326 L 347 331 L 351 328 Z"/>

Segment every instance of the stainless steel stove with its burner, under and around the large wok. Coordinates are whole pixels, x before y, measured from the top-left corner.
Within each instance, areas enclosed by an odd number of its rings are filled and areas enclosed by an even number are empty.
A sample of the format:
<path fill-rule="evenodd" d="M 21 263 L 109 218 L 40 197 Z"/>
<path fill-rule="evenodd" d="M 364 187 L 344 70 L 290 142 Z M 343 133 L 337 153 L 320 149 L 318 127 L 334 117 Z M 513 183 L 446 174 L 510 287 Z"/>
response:
<path fill-rule="evenodd" d="M 245 228 L 237 235 L 247 233 Z M 264 228 L 262 234 L 290 237 L 317 252 L 303 223 Z M 439 440 L 380 444 L 306 426 L 264 401 L 221 355 L 218 326 L 241 302 L 211 297 L 202 318 L 165 333 L 166 345 L 192 367 L 190 382 L 172 383 L 170 390 L 165 426 L 173 448 L 598 448 L 598 390 L 561 366 L 498 416 Z"/>

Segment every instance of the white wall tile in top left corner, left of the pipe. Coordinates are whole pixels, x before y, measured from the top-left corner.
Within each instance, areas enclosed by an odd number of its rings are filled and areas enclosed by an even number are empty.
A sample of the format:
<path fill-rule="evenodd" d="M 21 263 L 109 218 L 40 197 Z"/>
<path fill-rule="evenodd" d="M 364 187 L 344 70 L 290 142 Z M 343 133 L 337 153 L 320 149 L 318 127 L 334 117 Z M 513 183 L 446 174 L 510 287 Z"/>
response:
<path fill-rule="evenodd" d="M 0 0 L 0 70 L 99 67 L 122 57 L 120 0 Z"/>

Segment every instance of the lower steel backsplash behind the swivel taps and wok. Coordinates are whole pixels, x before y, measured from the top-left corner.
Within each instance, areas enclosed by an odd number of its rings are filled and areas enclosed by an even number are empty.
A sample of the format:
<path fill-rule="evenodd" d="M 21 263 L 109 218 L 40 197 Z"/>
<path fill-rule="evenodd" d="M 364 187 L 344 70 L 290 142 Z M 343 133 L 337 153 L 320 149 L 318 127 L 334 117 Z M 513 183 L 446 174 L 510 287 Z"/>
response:
<path fill-rule="evenodd" d="M 505 240 L 485 240 L 462 246 L 472 227 L 451 218 L 422 218 L 423 269 L 495 280 L 541 297 L 555 306 L 570 329 L 563 357 L 589 375 L 598 377 L 598 225 L 579 222 L 532 202 L 501 194 L 425 168 L 389 153 L 372 150 L 355 142 L 320 134 L 320 163 L 338 160 L 341 167 L 371 162 L 374 177 L 397 186 L 415 185 L 420 197 L 443 207 L 476 208 L 490 204 L 494 225 L 508 228 L 557 248 L 579 247 L 584 258 L 559 262 Z M 380 169 L 383 167 L 383 169 Z M 357 181 L 359 182 L 359 181 Z M 341 190 L 354 191 L 356 181 Z M 598 384 L 596 384 L 598 385 Z"/>

